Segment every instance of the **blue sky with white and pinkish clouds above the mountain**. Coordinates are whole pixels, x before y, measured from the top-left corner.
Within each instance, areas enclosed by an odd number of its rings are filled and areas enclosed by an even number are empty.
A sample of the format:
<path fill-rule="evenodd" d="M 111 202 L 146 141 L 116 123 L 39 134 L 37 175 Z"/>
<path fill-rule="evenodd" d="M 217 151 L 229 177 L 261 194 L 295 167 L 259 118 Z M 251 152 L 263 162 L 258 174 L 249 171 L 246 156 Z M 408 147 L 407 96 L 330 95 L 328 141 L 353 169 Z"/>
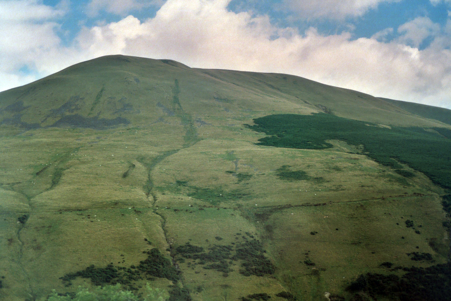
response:
<path fill-rule="evenodd" d="M 451 109 L 451 0 L 0 0 L 0 91 L 111 54 Z"/>

